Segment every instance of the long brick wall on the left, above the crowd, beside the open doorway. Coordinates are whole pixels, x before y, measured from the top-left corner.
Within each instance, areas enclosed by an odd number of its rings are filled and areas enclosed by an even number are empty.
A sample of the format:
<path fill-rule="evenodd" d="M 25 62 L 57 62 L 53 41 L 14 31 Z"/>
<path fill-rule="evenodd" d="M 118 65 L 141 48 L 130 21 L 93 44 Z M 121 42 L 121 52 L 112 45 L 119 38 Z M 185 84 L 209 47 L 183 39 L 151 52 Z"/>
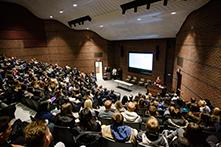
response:
<path fill-rule="evenodd" d="M 7 57 L 36 58 L 87 73 L 94 70 L 96 60 L 108 64 L 108 41 L 91 31 L 75 31 L 57 21 L 39 19 L 11 3 L 1 3 L 0 19 L 0 53 Z M 102 56 L 96 57 L 96 53 Z"/>

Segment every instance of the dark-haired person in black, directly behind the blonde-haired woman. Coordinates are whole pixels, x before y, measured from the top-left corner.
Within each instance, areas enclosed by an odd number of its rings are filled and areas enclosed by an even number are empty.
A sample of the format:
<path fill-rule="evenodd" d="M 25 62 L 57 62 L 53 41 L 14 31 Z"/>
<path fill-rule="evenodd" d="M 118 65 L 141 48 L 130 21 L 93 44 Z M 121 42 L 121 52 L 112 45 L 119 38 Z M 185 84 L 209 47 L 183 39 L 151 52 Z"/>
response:
<path fill-rule="evenodd" d="M 88 108 L 84 108 L 79 113 L 80 128 L 83 131 L 101 131 L 100 124 L 96 121 L 96 118 L 92 115 Z"/>

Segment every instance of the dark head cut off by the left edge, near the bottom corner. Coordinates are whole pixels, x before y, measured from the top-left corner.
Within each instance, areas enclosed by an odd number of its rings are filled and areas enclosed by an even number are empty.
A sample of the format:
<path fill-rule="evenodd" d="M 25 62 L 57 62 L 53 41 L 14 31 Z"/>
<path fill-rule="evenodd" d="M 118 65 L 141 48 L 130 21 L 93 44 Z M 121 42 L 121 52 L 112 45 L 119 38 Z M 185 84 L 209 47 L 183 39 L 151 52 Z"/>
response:
<path fill-rule="evenodd" d="M 12 131 L 11 119 L 8 116 L 0 117 L 0 143 L 7 141 Z"/>

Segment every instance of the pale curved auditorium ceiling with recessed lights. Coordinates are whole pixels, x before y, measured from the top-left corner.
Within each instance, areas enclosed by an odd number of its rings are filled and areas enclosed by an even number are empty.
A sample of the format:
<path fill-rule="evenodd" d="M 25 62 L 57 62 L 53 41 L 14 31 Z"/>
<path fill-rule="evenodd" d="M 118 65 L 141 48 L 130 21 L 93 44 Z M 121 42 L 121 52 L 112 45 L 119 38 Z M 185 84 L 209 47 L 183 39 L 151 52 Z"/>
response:
<path fill-rule="evenodd" d="M 152 3 L 150 9 L 140 6 L 122 14 L 120 5 L 133 0 L 0 0 L 20 4 L 42 19 L 56 19 L 68 26 L 68 21 L 90 15 L 92 21 L 72 27 L 92 30 L 108 40 L 129 40 L 176 37 L 186 17 L 209 0 L 163 0 Z M 73 4 L 77 4 L 74 7 Z M 59 13 L 59 11 L 63 13 Z M 176 12 L 176 14 L 171 14 Z M 50 18 L 53 16 L 53 18 Z M 69 26 L 68 26 L 69 27 Z"/>

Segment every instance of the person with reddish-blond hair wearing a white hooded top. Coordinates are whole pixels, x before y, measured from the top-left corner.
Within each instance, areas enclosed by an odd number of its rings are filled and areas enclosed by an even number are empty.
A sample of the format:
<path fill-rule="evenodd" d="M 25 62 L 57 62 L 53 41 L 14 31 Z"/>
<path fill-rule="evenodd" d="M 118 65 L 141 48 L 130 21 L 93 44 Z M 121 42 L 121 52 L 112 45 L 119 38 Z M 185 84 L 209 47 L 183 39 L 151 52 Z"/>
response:
<path fill-rule="evenodd" d="M 137 123 L 142 121 L 141 117 L 136 112 L 134 112 L 135 109 L 136 106 L 133 102 L 129 102 L 127 104 L 127 110 L 121 113 L 124 117 L 124 122 Z"/>

